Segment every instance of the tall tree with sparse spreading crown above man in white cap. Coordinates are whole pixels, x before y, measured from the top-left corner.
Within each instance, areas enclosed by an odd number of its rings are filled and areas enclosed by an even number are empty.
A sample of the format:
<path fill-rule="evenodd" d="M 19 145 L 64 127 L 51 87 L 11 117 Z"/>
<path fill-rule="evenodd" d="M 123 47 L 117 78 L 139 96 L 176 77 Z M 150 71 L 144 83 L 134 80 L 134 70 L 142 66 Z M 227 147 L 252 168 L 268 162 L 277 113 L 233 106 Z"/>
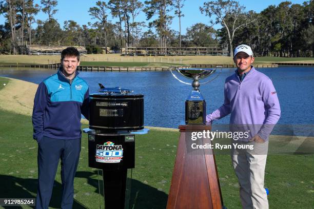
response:
<path fill-rule="evenodd" d="M 239 5 L 233 0 L 218 0 L 205 2 L 203 7 L 200 7 L 202 13 L 206 16 L 215 16 L 215 20 L 211 20 L 212 24 L 222 24 L 226 28 L 229 41 L 230 56 L 233 57 L 232 41 L 234 33 L 242 27 L 252 23 L 256 18 L 253 12 L 244 12 L 245 7 Z"/>

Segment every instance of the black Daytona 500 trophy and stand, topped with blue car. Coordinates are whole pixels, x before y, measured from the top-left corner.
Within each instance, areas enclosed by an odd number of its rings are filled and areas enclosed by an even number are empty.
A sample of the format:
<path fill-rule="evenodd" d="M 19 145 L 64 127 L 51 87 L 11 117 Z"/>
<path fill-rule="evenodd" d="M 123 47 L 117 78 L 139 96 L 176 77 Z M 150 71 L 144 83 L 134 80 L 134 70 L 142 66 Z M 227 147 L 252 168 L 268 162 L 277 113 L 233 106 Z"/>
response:
<path fill-rule="evenodd" d="M 100 86 L 100 93 L 90 94 L 90 129 L 84 129 L 88 166 L 102 170 L 99 189 L 101 193 L 103 187 L 105 208 L 126 208 L 128 169 L 135 167 L 134 133 L 144 129 L 144 98 L 128 94 L 130 90 Z"/>

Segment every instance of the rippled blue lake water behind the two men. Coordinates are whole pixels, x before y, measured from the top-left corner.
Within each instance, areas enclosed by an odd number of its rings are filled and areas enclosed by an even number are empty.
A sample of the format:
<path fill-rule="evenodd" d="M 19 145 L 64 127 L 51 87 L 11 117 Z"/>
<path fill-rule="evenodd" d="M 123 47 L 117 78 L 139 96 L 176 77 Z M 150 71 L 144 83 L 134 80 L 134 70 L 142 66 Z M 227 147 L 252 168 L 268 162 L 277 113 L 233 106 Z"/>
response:
<path fill-rule="evenodd" d="M 223 69 L 221 75 L 206 85 L 201 93 L 207 102 L 207 113 L 219 108 L 224 100 L 224 81 L 235 69 Z M 279 67 L 259 68 L 272 79 L 281 105 L 280 124 L 314 124 L 314 68 Z M 0 76 L 40 83 L 55 70 L 0 69 Z M 105 87 L 122 87 L 144 94 L 145 125 L 177 128 L 184 120 L 185 100 L 191 86 L 174 79 L 170 72 L 80 72 L 90 87 L 97 92 L 98 83 Z M 227 124 L 229 117 L 217 123 Z"/>

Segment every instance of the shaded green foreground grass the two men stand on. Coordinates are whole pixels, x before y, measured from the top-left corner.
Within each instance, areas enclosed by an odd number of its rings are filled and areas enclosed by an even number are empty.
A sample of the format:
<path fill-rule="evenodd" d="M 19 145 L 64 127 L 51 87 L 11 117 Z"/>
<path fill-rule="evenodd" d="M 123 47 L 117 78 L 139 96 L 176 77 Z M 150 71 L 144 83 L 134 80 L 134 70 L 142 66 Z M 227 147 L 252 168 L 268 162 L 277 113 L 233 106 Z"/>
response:
<path fill-rule="evenodd" d="M 0 83 L 4 80 L 0 78 Z M 0 115 L 0 197 L 35 198 L 37 143 L 32 139 L 31 117 L 1 109 Z M 179 132 L 154 130 L 147 135 L 136 135 L 131 193 L 133 208 L 165 208 L 178 137 Z M 88 140 L 83 134 L 80 163 L 74 181 L 73 208 L 99 208 L 96 203 L 99 200 L 97 170 L 88 167 L 87 157 Z M 240 208 L 239 185 L 230 156 L 216 155 L 216 161 L 224 204 L 228 209 Z M 313 165 L 314 155 L 269 155 L 265 186 L 270 191 L 270 208 L 311 208 L 314 205 Z M 51 208 L 60 208 L 60 202 L 59 166 Z"/>

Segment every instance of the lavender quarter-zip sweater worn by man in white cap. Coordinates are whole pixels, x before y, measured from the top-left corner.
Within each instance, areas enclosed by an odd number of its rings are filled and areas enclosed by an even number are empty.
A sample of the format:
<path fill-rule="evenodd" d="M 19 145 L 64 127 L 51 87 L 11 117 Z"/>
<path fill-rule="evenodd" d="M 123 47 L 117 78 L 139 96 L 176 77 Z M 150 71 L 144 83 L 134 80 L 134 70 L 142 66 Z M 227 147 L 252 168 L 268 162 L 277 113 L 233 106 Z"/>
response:
<path fill-rule="evenodd" d="M 224 104 L 207 115 L 206 122 L 231 113 L 230 124 L 251 126 L 251 137 L 258 134 L 267 140 L 280 118 L 279 100 L 270 78 L 252 67 L 242 82 L 236 73 L 227 77 L 224 92 Z"/>

